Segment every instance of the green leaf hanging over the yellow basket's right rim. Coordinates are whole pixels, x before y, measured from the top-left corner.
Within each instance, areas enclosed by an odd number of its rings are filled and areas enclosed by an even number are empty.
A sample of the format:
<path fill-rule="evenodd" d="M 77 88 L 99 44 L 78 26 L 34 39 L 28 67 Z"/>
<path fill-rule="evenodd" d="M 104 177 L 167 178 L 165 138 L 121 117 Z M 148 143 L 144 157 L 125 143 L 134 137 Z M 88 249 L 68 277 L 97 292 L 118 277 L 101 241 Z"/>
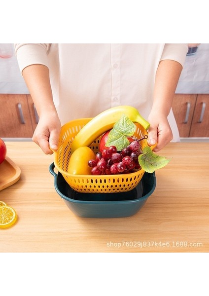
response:
<path fill-rule="evenodd" d="M 139 164 L 147 173 L 153 173 L 155 170 L 163 168 L 171 160 L 155 154 L 149 146 L 143 148 L 142 152 L 139 155 Z"/>

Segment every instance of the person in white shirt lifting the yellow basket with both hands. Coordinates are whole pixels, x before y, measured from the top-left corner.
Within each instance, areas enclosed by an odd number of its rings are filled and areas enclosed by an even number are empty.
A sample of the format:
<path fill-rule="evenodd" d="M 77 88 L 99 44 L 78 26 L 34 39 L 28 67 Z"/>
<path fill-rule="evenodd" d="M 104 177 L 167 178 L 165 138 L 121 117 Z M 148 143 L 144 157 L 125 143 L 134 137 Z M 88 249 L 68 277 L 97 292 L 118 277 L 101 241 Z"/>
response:
<path fill-rule="evenodd" d="M 155 152 L 179 141 L 171 110 L 187 44 L 15 44 L 21 73 L 39 115 L 33 140 L 56 149 L 61 125 L 119 105 L 149 121 Z"/>

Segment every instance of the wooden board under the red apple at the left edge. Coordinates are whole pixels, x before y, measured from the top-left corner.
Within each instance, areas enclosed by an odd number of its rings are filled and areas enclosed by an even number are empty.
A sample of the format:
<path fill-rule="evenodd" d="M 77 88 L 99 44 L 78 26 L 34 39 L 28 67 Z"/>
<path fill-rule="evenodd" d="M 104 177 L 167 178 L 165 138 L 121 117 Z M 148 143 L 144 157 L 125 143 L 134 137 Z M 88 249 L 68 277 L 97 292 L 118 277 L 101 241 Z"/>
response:
<path fill-rule="evenodd" d="M 0 164 L 0 190 L 16 183 L 20 179 L 20 168 L 6 156 Z"/>

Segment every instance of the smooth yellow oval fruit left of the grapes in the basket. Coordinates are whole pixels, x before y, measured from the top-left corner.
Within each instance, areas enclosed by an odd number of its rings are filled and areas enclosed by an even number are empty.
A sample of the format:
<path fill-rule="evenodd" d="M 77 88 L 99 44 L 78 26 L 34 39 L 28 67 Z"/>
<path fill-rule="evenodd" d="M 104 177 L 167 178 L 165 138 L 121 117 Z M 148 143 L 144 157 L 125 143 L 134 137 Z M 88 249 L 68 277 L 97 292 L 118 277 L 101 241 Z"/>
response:
<path fill-rule="evenodd" d="M 91 175 L 91 167 L 88 165 L 90 159 L 95 159 L 94 151 L 87 147 L 77 148 L 71 155 L 68 173 L 72 175 Z"/>

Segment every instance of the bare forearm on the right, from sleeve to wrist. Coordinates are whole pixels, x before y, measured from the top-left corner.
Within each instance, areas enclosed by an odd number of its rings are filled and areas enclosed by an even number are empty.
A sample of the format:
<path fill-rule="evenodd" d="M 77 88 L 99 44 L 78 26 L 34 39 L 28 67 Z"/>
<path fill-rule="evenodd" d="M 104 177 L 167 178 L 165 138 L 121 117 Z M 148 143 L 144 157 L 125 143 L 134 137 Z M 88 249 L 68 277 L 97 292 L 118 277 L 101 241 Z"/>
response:
<path fill-rule="evenodd" d="M 163 60 L 159 63 L 155 77 L 152 114 L 168 116 L 181 71 L 182 66 L 176 61 Z"/>

